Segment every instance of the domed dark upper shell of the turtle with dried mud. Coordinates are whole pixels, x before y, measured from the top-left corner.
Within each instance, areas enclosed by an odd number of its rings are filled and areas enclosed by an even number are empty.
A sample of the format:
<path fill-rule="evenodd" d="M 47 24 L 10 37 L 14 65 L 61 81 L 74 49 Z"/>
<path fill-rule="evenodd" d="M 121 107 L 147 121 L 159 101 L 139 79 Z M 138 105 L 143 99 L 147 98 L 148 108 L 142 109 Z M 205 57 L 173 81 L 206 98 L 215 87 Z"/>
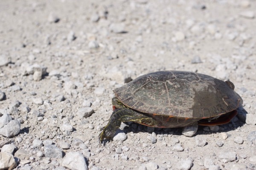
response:
<path fill-rule="evenodd" d="M 178 118 L 215 117 L 243 103 L 230 81 L 184 71 L 152 72 L 113 92 L 131 109 Z"/>

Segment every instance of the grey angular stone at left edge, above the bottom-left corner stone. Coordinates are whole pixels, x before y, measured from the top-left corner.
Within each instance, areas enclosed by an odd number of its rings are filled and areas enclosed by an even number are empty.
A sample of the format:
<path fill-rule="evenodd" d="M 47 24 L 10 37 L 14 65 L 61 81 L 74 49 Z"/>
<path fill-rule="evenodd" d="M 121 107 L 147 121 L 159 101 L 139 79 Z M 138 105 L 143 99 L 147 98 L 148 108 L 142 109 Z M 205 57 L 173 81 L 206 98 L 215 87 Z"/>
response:
<path fill-rule="evenodd" d="M 20 132 L 20 122 L 17 119 L 10 121 L 4 127 L 0 129 L 0 135 L 7 138 L 15 136 Z"/>

